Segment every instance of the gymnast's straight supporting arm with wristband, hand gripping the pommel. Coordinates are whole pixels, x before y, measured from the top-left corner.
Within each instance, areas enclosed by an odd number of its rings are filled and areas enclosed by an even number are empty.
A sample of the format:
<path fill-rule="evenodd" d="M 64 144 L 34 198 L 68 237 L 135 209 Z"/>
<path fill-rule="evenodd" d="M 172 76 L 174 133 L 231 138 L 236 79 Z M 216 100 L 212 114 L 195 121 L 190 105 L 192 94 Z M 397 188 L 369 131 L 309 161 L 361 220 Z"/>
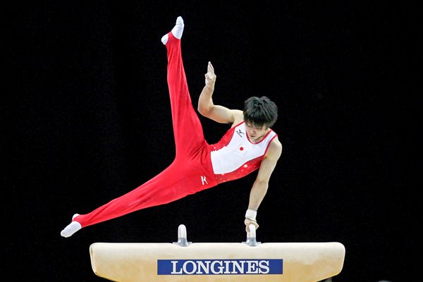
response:
<path fill-rule="evenodd" d="M 267 151 L 266 157 L 264 157 L 262 164 L 260 164 L 259 172 L 257 173 L 257 178 L 252 185 L 250 191 L 250 202 L 248 204 L 248 209 L 245 214 L 245 230 L 250 231 L 250 224 L 254 224 L 255 228 L 259 228 L 257 223 L 256 215 L 257 210 L 259 209 L 264 196 L 266 195 L 267 188 L 269 187 L 269 180 L 271 173 L 273 173 L 278 159 L 282 154 L 282 144 L 279 142 L 278 137 L 276 137 Z"/>

